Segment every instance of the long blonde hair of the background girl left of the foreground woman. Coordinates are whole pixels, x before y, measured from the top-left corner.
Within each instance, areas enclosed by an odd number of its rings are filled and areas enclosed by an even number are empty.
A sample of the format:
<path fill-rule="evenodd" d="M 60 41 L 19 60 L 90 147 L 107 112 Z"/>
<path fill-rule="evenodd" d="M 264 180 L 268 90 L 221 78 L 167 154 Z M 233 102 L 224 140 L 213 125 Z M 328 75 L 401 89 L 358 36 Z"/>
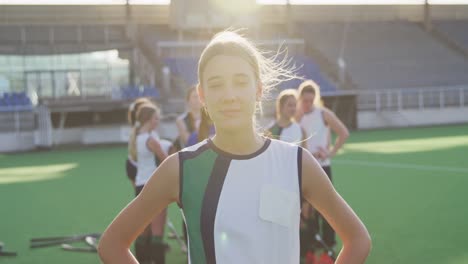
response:
<path fill-rule="evenodd" d="M 151 117 L 157 113 L 160 114 L 159 108 L 152 103 L 145 103 L 140 105 L 136 112 L 136 121 L 133 125 L 132 132 L 130 133 L 130 140 L 128 144 L 128 153 L 132 160 L 137 161 L 137 146 L 136 146 L 136 137 L 140 131 L 140 128 L 149 120 Z"/>

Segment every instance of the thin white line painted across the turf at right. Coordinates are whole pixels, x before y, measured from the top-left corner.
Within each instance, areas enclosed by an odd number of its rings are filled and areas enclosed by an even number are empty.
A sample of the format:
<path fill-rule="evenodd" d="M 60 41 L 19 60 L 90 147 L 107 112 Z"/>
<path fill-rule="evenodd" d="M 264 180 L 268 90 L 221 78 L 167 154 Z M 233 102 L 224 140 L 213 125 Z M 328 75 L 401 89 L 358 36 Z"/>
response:
<path fill-rule="evenodd" d="M 379 161 L 338 160 L 338 159 L 334 160 L 333 162 L 340 163 L 340 164 L 360 165 L 360 166 L 368 166 L 368 167 L 385 167 L 385 168 L 395 168 L 395 169 L 412 169 L 412 170 L 423 170 L 423 171 L 444 171 L 444 172 L 468 173 L 468 168 L 457 168 L 457 167 L 390 163 L 390 162 L 379 162 Z"/>

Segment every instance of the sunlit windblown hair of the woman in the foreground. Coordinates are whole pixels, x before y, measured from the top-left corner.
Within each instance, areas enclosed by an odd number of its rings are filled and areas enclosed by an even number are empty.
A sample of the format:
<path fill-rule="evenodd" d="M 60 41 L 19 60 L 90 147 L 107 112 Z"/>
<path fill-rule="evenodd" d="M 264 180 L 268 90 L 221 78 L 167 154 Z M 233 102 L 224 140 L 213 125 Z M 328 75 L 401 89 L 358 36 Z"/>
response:
<path fill-rule="evenodd" d="M 283 57 L 284 52 L 278 50 L 274 56 L 267 57 L 267 52 L 261 51 L 238 31 L 226 30 L 216 34 L 203 50 L 198 61 L 198 80 L 201 85 L 203 71 L 207 63 L 217 55 L 238 56 L 249 63 L 254 69 L 255 77 L 262 86 L 262 97 L 258 98 L 256 112 L 262 113 L 261 102 L 270 91 L 283 81 L 298 78 L 294 74 L 295 66 L 289 66 L 290 60 Z M 203 85 L 202 85 L 203 87 Z"/>

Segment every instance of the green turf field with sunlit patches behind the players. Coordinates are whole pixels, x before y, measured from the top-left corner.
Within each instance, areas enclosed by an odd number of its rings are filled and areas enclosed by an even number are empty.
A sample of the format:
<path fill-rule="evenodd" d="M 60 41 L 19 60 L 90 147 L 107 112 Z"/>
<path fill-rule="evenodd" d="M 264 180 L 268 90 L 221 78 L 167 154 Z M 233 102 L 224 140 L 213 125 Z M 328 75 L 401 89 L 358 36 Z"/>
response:
<path fill-rule="evenodd" d="M 126 147 L 0 155 L 0 263 L 99 263 L 96 254 L 29 249 L 40 236 L 102 232 L 133 197 Z M 468 125 L 353 132 L 335 186 L 367 225 L 367 263 L 468 263 Z M 180 228 L 177 207 L 170 208 Z M 185 263 L 170 241 L 168 263 Z"/>

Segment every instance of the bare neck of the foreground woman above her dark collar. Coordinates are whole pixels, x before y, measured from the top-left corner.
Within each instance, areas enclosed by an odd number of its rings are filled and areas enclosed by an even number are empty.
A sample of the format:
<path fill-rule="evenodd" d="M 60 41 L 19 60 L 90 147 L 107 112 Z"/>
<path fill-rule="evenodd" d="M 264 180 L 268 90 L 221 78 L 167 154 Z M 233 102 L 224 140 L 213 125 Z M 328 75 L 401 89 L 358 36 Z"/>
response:
<path fill-rule="evenodd" d="M 216 128 L 213 143 L 223 151 L 236 155 L 248 155 L 260 149 L 264 139 L 255 132 L 252 124 L 241 131 Z"/>

